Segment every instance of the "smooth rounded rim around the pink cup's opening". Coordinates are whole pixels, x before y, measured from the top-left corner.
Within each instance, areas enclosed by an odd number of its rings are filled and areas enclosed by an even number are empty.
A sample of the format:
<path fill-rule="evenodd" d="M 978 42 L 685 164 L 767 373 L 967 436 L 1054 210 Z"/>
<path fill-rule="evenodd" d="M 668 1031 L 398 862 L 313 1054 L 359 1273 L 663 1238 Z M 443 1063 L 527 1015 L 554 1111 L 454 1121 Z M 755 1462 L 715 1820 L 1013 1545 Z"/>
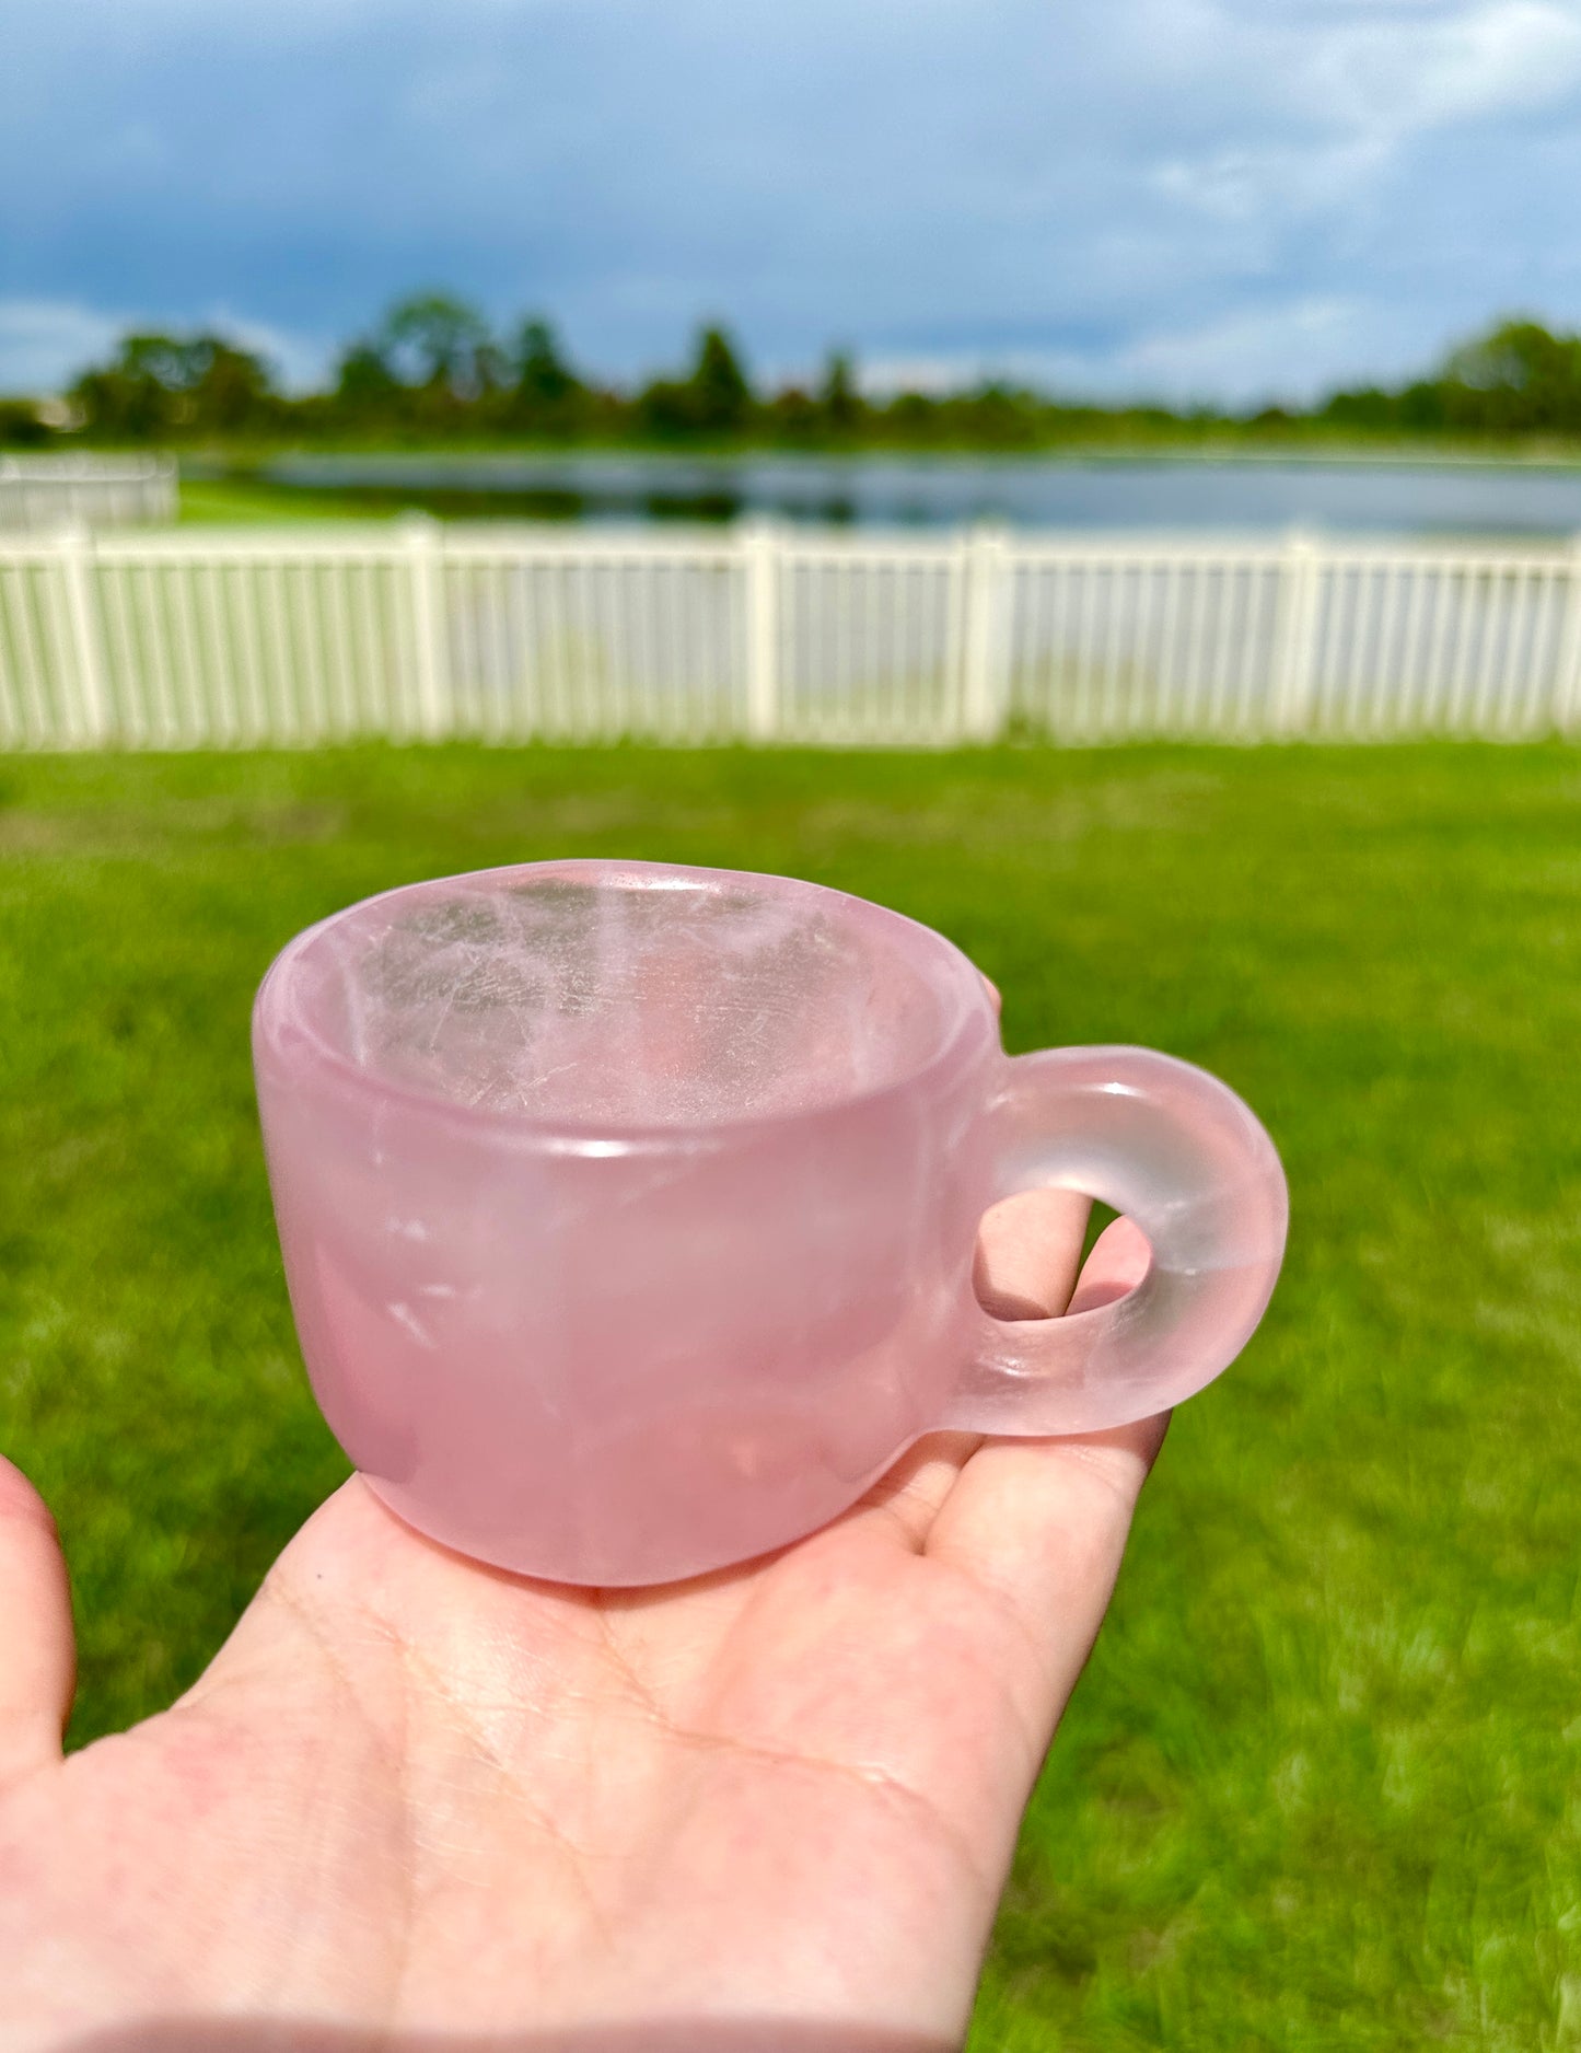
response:
<path fill-rule="evenodd" d="M 337 922 L 347 920 L 370 905 L 378 905 L 384 899 L 404 897 L 413 891 L 429 891 L 452 883 L 476 885 L 491 877 L 522 877 L 524 873 L 581 873 L 593 875 L 604 883 L 618 883 L 622 877 L 630 877 L 641 879 L 645 889 L 653 889 L 655 877 L 669 877 L 678 881 L 696 879 L 702 883 L 729 879 L 747 887 L 768 881 L 774 885 L 793 885 L 799 893 L 809 893 L 821 899 L 838 899 L 844 905 L 860 907 L 864 918 L 877 914 L 883 922 L 903 928 L 908 936 L 922 940 L 928 953 L 934 955 L 936 961 L 949 971 L 951 983 L 955 985 L 955 1016 L 944 1018 L 938 1043 L 922 1061 L 912 1063 L 912 1068 L 903 1070 L 899 1076 L 889 1076 L 879 1084 L 850 1090 L 830 1098 L 827 1102 L 811 1105 L 799 1111 L 727 1113 L 719 1119 L 698 1123 L 663 1123 L 540 1117 L 526 1111 L 464 1105 L 462 1100 L 448 1098 L 437 1090 L 423 1090 L 417 1084 L 376 1076 L 337 1049 L 335 1043 L 308 1020 L 283 1014 L 283 992 L 292 969 L 300 957 L 308 953 L 312 942 Z M 879 905 L 875 899 L 858 897 L 854 891 L 840 891 L 834 885 L 819 885 L 805 877 L 784 877 L 778 870 L 727 870 L 692 862 L 628 860 L 624 856 L 565 856 L 542 862 L 501 862 L 485 870 L 456 870 L 446 877 L 411 879 L 402 885 L 390 885 L 386 891 L 374 891 L 363 899 L 355 899 L 351 905 L 341 905 L 322 920 L 314 920 L 312 926 L 292 936 L 292 940 L 285 942 L 269 969 L 263 973 L 257 998 L 253 1000 L 255 1061 L 261 1059 L 263 1051 L 279 1055 L 283 1051 L 283 1037 L 290 1037 L 308 1047 L 318 1068 L 331 1072 L 339 1084 L 349 1086 L 359 1096 L 382 1100 L 394 1098 L 415 1111 L 421 1111 L 423 1117 L 439 1119 L 444 1123 L 470 1127 L 474 1131 L 491 1131 L 519 1141 L 536 1141 L 548 1152 L 589 1156 L 630 1154 L 639 1150 L 657 1154 L 680 1148 L 700 1148 L 715 1139 L 737 1137 L 754 1129 L 788 1127 L 805 1121 L 838 1117 L 856 1107 L 879 1105 L 899 1092 L 914 1090 L 918 1084 L 928 1082 L 938 1072 L 963 1059 L 967 1043 L 975 1037 L 973 1031 L 984 1024 L 988 1026 L 988 1033 L 981 1035 L 981 1039 L 996 1039 L 994 1008 L 988 998 L 988 979 L 971 957 L 957 948 L 953 940 L 936 928 L 926 926 L 922 920 L 912 920 L 910 914 L 895 912 L 891 905 Z"/>

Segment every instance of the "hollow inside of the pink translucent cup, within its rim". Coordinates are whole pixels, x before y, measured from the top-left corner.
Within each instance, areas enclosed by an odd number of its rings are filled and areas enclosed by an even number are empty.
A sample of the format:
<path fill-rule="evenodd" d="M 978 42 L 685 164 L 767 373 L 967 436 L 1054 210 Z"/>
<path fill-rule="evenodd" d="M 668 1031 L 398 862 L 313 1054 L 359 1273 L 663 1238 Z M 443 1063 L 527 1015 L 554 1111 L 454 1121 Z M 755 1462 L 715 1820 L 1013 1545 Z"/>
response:
<path fill-rule="evenodd" d="M 782 877 L 524 864 L 353 905 L 277 994 L 394 1088 L 550 1123 L 715 1125 L 916 1074 L 981 1004 L 940 936 Z"/>

